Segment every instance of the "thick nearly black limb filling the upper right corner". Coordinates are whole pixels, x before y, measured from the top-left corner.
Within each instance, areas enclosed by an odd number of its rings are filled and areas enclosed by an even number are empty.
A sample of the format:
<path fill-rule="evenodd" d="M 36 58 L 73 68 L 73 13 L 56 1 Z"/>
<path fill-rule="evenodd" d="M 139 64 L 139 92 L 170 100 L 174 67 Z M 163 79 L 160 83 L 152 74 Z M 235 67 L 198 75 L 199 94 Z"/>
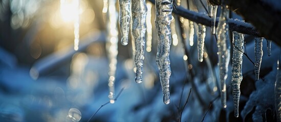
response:
<path fill-rule="evenodd" d="M 220 0 L 208 0 L 218 4 Z M 274 3 L 262 0 L 225 0 L 226 5 L 245 21 L 252 23 L 262 37 L 274 41 L 281 46 L 281 10 L 274 8 Z M 219 3 L 221 4 L 221 3 Z"/>

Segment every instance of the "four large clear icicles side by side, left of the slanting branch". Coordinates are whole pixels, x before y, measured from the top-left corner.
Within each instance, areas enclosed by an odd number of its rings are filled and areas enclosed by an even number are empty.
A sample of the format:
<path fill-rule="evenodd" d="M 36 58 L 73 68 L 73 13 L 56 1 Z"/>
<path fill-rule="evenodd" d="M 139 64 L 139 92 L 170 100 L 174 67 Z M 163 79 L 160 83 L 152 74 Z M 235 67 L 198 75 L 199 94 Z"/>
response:
<path fill-rule="evenodd" d="M 109 71 L 109 86 L 111 103 L 114 103 L 114 81 L 115 71 L 117 64 L 117 42 L 118 31 L 116 30 L 116 0 L 104 0 L 103 13 L 106 15 L 107 25 L 107 40 L 109 40 L 108 52 L 110 60 Z M 171 75 L 169 50 L 171 44 L 171 12 L 172 12 L 172 0 L 156 0 L 156 29 L 158 34 L 158 52 L 156 62 L 159 68 L 160 81 L 163 90 L 163 100 L 165 104 L 170 102 L 169 98 L 169 79 Z M 147 6 L 145 0 L 119 0 L 119 26 L 121 32 L 121 44 L 128 44 L 128 36 L 131 24 L 132 40 L 135 44 L 135 65 L 136 65 L 136 82 L 142 82 L 142 67 L 144 59 L 144 45 L 145 45 L 145 33 L 146 33 L 146 15 Z M 150 8 L 149 8 L 150 9 Z M 149 16 L 150 17 L 150 16 Z M 150 23 L 149 23 L 150 25 Z M 149 27 L 150 30 L 151 27 Z M 149 31 L 149 35 L 151 31 Z M 151 36 L 151 35 L 150 35 Z M 151 40 L 149 38 L 149 40 Z M 148 43 L 151 44 L 151 41 Z M 151 46 L 150 49 L 151 50 Z"/>

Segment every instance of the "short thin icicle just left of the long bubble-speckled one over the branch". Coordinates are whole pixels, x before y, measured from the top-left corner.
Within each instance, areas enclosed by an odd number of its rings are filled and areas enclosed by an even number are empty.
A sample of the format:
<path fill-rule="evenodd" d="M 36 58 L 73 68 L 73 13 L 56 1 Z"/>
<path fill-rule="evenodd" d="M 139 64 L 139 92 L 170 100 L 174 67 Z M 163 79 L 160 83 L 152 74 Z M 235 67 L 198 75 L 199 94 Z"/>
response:
<path fill-rule="evenodd" d="M 208 2 L 208 15 L 211 17 L 211 32 L 215 34 L 215 18 L 217 17 L 218 6 L 213 6 Z"/>

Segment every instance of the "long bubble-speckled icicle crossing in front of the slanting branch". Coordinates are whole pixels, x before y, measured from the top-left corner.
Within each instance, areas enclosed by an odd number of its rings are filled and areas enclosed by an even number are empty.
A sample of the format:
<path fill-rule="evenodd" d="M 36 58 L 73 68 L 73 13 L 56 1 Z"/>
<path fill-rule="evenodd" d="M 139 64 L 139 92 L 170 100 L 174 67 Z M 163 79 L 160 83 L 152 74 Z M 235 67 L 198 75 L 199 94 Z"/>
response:
<path fill-rule="evenodd" d="M 230 45 L 228 37 L 228 6 L 222 6 L 220 20 L 217 28 L 218 33 L 218 55 L 220 68 L 220 82 L 221 82 L 221 101 L 222 106 L 226 108 L 226 78 L 228 72 L 228 63 L 230 58 Z"/>

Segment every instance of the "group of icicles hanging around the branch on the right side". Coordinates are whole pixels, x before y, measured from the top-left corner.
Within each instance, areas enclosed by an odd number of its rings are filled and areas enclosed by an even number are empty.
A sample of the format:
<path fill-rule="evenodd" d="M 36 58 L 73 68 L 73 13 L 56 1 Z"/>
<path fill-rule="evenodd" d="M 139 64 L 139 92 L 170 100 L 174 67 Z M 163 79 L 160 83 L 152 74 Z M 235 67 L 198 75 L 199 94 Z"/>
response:
<path fill-rule="evenodd" d="M 228 37 L 229 25 L 228 16 L 229 10 L 228 6 L 222 5 L 222 11 L 219 18 L 219 23 L 217 27 L 218 35 L 218 56 L 219 56 L 219 72 L 220 72 L 220 83 L 221 83 L 221 101 L 222 106 L 226 107 L 226 79 L 228 72 L 228 64 L 230 59 L 230 41 Z M 209 5 L 209 16 L 211 17 L 211 32 L 214 34 L 215 28 L 215 14 L 217 7 Z M 199 26 L 200 31 L 200 26 Z M 199 36 L 200 38 L 200 36 Z M 254 63 L 254 73 L 255 79 L 258 80 L 260 76 L 260 69 L 263 56 L 263 40 L 264 38 L 255 38 L 255 63 Z M 198 42 L 199 43 L 199 42 Z M 200 44 L 200 43 L 199 43 Z M 242 56 L 244 53 L 244 34 L 233 31 L 233 56 L 232 56 L 232 94 L 234 103 L 234 116 L 239 116 L 239 100 L 240 100 L 240 84 L 243 79 L 242 76 Z M 271 41 L 267 41 L 268 56 L 271 55 Z M 200 51 L 200 50 L 199 50 Z M 199 58 L 200 60 L 200 58 Z"/>

